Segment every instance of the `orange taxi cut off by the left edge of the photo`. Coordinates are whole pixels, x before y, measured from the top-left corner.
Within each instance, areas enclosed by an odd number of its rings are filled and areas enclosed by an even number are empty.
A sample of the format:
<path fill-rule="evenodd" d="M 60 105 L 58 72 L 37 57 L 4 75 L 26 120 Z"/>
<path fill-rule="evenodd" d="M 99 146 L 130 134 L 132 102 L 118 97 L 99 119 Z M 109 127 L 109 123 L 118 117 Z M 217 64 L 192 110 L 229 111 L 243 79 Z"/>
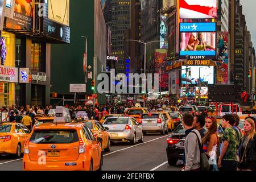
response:
<path fill-rule="evenodd" d="M 0 123 L 0 154 L 14 154 L 20 158 L 28 135 L 30 130 L 21 123 Z"/>

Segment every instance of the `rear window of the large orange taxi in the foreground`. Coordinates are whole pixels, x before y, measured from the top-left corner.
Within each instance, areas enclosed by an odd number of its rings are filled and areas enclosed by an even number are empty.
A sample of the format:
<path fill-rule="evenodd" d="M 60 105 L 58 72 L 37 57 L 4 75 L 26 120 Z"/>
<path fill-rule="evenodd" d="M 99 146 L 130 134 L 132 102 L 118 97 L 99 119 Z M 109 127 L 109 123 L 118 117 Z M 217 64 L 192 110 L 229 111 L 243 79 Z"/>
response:
<path fill-rule="evenodd" d="M 79 141 L 76 130 L 35 130 L 30 142 L 45 143 L 75 143 Z"/>

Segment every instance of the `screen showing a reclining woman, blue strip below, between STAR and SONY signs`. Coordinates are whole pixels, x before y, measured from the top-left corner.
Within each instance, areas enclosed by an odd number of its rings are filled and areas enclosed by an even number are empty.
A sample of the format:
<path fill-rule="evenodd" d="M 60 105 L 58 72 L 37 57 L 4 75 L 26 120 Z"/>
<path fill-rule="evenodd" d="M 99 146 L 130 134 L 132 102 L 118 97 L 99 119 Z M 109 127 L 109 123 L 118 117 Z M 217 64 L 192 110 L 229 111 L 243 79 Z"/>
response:
<path fill-rule="evenodd" d="M 180 32 L 180 56 L 215 57 L 216 32 Z"/>

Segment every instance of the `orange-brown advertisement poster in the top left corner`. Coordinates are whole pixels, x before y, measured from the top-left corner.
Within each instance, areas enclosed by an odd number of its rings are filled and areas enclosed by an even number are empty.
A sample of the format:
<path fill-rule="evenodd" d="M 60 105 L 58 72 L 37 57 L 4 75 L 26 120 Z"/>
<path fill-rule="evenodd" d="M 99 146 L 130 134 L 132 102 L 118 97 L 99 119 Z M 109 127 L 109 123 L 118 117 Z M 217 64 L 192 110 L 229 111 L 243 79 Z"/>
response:
<path fill-rule="evenodd" d="M 33 25 L 34 0 L 15 0 L 13 19 L 6 19 L 6 28 L 14 30 L 27 29 L 31 31 Z"/>

